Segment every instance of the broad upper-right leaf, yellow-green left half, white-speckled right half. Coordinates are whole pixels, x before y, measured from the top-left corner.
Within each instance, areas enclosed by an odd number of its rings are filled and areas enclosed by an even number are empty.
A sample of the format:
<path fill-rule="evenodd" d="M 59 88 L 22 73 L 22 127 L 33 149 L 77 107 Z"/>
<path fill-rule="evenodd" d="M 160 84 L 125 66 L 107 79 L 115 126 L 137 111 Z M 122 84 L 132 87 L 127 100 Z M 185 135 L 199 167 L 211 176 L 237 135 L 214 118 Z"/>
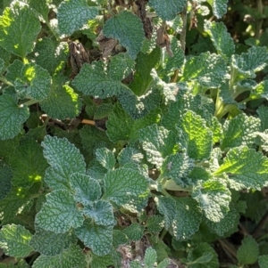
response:
<path fill-rule="evenodd" d="M 228 68 L 221 55 L 201 53 L 186 61 L 181 81 L 197 81 L 205 88 L 217 88 L 228 77 Z"/>

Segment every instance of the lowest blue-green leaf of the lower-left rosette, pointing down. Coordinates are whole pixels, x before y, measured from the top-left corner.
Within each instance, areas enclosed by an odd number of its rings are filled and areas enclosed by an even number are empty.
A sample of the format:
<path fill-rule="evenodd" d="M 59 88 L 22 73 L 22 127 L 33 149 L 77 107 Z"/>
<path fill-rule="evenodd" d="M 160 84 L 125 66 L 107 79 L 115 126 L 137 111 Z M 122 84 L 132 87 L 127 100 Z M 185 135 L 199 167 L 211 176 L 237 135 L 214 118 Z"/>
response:
<path fill-rule="evenodd" d="M 113 226 L 96 225 L 86 220 L 75 233 L 97 256 L 110 253 L 113 244 Z"/>

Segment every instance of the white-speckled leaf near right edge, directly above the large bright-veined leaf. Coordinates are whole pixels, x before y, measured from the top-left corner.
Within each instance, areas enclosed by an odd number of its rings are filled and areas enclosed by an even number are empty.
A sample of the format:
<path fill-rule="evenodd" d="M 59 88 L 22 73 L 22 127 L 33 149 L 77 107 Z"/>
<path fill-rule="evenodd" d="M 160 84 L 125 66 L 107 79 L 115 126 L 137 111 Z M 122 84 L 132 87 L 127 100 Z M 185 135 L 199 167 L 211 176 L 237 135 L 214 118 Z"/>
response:
<path fill-rule="evenodd" d="M 260 130 L 260 126 L 259 118 L 247 117 L 244 113 L 226 120 L 223 125 L 221 149 L 226 150 L 240 145 L 252 146 L 255 142 L 255 132 Z"/>

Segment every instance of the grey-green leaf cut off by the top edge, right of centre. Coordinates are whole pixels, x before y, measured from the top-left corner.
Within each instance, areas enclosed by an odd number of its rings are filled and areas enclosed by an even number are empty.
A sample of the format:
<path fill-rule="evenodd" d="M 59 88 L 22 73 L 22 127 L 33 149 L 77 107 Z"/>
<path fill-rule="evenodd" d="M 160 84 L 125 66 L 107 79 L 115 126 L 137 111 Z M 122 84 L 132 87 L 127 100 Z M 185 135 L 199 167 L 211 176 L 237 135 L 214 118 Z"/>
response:
<path fill-rule="evenodd" d="M 149 0 L 149 5 L 162 20 L 175 19 L 177 13 L 183 11 L 186 3 L 186 0 Z"/>

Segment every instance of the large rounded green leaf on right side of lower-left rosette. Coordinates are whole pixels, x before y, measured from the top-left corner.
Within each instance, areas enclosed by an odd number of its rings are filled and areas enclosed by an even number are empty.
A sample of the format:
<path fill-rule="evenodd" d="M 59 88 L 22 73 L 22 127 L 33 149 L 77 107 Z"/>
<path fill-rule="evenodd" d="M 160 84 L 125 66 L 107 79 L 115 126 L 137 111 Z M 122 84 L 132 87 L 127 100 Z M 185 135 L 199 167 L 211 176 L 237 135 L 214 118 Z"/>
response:
<path fill-rule="evenodd" d="M 148 182 L 136 170 L 118 168 L 109 170 L 104 178 L 104 196 L 117 205 L 126 205 L 132 198 L 147 196 Z"/>

